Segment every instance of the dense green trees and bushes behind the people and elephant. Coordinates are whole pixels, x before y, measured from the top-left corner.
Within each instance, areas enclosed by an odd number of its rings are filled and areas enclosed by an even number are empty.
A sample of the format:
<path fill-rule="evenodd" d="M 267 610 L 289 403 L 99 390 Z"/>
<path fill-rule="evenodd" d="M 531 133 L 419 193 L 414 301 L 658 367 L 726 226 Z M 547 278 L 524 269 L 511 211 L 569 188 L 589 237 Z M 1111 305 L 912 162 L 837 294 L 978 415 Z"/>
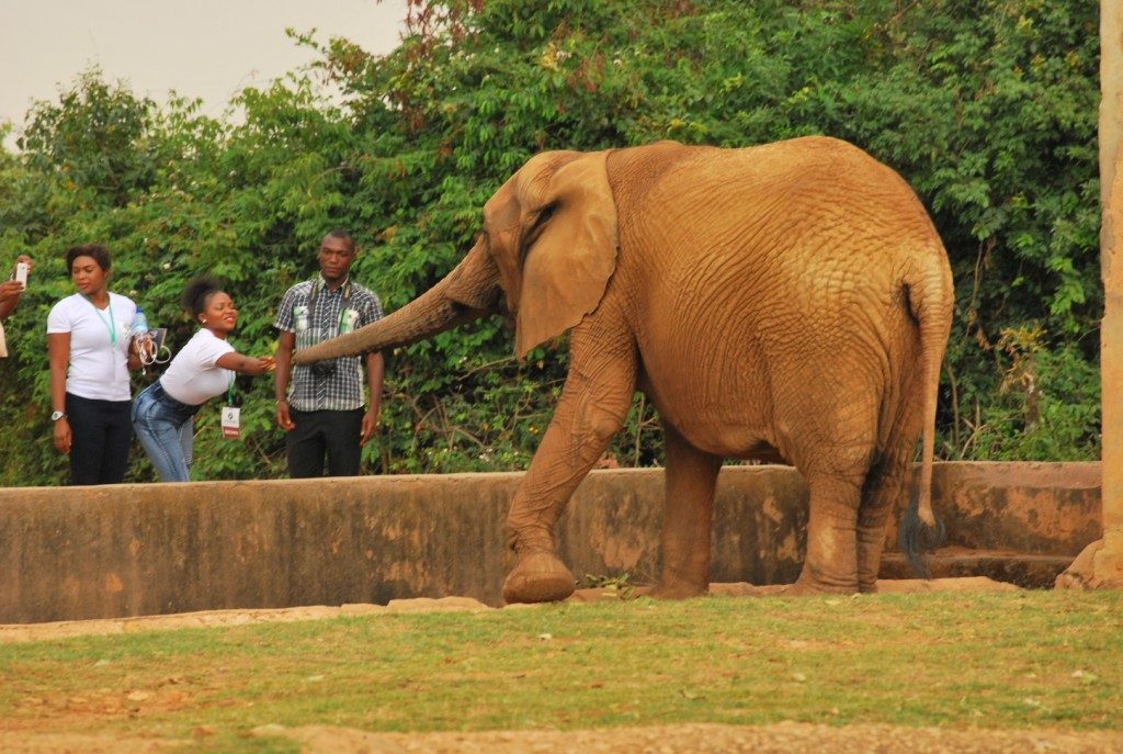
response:
<path fill-rule="evenodd" d="M 64 478 L 49 447 L 42 323 L 70 292 L 61 255 L 102 240 L 115 290 L 182 345 L 184 281 L 230 281 L 236 346 L 273 347 L 273 308 L 314 270 L 334 227 L 363 249 L 357 278 L 393 310 L 447 273 L 487 197 L 540 149 L 659 138 L 740 146 L 822 133 L 855 142 L 916 188 L 948 247 L 957 316 L 939 417 L 946 457 L 1098 456 L 1097 15 L 1079 0 L 410 0 L 411 33 L 372 56 L 346 39 L 231 103 L 157 107 L 93 70 L 36 103 L 20 152 L 0 154 L 0 262 L 28 251 L 31 290 L 0 364 L 0 483 Z M 325 84 L 341 92 L 331 101 Z M 1032 330 L 1032 344 L 1010 333 Z M 383 473 L 527 464 L 566 353 L 511 358 L 478 321 L 387 354 Z M 1026 361 L 1032 354 L 1032 360 Z M 1032 370 L 1037 393 L 1007 379 Z M 138 378 L 139 388 L 152 374 Z M 1005 384 L 1005 388 L 1004 388 Z M 244 385 L 243 443 L 201 414 L 200 478 L 276 476 L 272 385 Z M 1031 407 L 1035 401 L 1035 408 Z M 1025 417 L 1033 414 L 1033 421 Z M 606 463 L 659 463 L 637 398 Z M 135 453 L 133 479 L 152 479 Z"/>

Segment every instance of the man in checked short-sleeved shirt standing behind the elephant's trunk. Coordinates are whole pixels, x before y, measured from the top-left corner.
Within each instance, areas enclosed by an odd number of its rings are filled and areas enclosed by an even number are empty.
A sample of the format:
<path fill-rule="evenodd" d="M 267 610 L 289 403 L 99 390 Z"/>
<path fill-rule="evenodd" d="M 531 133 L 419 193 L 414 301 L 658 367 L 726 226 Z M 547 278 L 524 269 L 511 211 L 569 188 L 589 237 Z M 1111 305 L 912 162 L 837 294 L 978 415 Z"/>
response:
<path fill-rule="evenodd" d="M 273 326 L 276 351 L 276 420 L 287 433 L 289 475 L 293 479 L 355 476 L 362 446 L 378 425 L 384 363 L 381 353 L 292 366 L 292 355 L 321 340 L 382 318 L 378 297 L 350 279 L 355 242 L 331 230 L 320 242 L 320 274 L 296 283 L 284 298 Z M 369 406 L 363 410 L 363 362 Z"/>

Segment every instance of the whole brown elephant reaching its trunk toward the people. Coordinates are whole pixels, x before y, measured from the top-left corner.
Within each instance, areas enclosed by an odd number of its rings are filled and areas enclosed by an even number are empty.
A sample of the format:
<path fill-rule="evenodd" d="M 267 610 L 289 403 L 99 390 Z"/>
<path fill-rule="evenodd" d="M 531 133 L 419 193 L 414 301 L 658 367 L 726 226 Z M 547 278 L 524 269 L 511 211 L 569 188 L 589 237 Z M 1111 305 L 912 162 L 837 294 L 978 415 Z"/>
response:
<path fill-rule="evenodd" d="M 743 148 L 657 142 L 532 156 L 487 200 L 442 280 L 389 317 L 295 356 L 396 347 L 478 317 L 514 327 L 520 360 L 568 333 L 569 370 L 506 519 L 508 602 L 562 600 L 573 573 L 554 525 L 642 391 L 665 437 L 655 597 L 709 589 L 725 460 L 794 465 L 806 557 L 787 593 L 876 591 L 886 529 L 914 563 L 931 503 L 947 252 L 920 199 L 847 142 Z"/>

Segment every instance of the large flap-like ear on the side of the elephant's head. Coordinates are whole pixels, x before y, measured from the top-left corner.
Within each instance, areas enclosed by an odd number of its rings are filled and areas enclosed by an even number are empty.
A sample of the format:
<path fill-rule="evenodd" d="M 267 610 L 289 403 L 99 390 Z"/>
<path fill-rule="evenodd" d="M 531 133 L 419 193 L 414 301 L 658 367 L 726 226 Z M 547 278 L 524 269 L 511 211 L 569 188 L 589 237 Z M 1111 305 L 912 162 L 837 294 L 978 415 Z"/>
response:
<path fill-rule="evenodd" d="M 596 309 L 617 267 L 617 206 L 609 152 L 581 155 L 545 175 L 526 176 L 522 284 L 514 354 L 562 335 Z"/>

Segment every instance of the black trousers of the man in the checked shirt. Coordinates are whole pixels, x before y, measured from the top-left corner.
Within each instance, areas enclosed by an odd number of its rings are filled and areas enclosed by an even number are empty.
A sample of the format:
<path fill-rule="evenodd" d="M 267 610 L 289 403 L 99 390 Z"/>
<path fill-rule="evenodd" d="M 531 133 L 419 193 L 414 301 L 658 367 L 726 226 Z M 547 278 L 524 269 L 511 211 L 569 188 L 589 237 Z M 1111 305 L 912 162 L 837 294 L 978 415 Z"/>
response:
<path fill-rule="evenodd" d="M 323 476 L 325 455 L 328 476 L 358 476 L 363 409 L 298 411 L 290 408 L 289 418 L 296 425 L 295 429 L 285 435 L 290 476 Z"/>

